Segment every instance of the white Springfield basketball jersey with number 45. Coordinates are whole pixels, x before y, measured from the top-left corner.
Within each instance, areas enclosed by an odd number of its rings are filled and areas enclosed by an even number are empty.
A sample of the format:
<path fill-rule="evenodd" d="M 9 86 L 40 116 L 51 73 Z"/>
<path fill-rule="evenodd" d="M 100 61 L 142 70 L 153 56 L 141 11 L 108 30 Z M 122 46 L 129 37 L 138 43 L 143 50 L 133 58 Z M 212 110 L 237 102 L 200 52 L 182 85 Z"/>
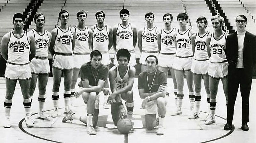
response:
<path fill-rule="evenodd" d="M 74 26 L 76 31 L 76 43 L 74 48 L 74 53 L 90 53 L 89 48 L 89 31 L 88 27 L 85 26 L 85 29 L 82 31 L 76 26 Z"/>

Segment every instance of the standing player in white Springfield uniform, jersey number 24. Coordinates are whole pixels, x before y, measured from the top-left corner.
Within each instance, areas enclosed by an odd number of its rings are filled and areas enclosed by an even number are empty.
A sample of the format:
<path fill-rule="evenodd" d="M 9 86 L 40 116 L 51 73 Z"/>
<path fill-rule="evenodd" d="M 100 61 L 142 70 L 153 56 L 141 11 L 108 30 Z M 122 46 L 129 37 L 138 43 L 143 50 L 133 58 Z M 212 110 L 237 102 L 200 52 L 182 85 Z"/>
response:
<path fill-rule="evenodd" d="M 195 33 L 193 30 L 188 28 L 188 15 L 186 13 L 179 13 L 177 16 L 177 21 L 180 25 L 180 28 L 177 30 L 175 35 L 176 48 L 177 53 L 174 59 L 174 63 L 172 68 L 175 69 L 175 77 L 177 81 L 177 108 L 176 111 L 171 115 L 180 115 L 182 100 L 183 100 L 183 86 L 184 86 L 184 74 L 186 75 L 186 80 L 188 84 L 188 95 L 190 100 L 190 111 L 194 108 L 195 103 L 195 89 L 193 84 L 193 75 L 190 71 L 193 52 L 192 52 L 192 44 L 194 44 Z"/>

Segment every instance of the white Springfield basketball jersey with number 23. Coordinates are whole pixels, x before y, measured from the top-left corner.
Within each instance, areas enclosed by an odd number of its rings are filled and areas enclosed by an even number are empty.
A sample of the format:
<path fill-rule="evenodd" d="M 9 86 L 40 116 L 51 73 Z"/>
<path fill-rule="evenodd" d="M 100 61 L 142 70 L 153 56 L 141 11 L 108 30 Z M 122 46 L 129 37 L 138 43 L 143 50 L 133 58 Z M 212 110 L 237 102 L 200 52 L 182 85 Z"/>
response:
<path fill-rule="evenodd" d="M 48 33 L 44 29 L 44 34 L 40 35 L 35 29 L 32 29 L 36 43 L 36 56 L 37 57 L 48 57 L 48 45 L 50 38 Z"/>

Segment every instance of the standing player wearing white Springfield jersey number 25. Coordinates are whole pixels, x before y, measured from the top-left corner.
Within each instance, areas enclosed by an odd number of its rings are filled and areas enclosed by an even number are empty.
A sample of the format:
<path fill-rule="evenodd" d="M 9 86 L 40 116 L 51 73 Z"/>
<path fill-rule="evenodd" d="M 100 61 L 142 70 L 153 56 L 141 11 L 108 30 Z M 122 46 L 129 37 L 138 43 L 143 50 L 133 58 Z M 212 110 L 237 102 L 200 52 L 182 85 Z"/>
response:
<path fill-rule="evenodd" d="M 155 55 L 158 57 L 157 47 L 157 34 L 159 33 L 158 28 L 154 26 L 155 15 L 152 12 L 148 12 L 145 15 L 147 27 L 139 30 L 138 46 L 140 49 L 140 65 L 141 72 L 147 69 L 146 58 L 148 55 Z"/>

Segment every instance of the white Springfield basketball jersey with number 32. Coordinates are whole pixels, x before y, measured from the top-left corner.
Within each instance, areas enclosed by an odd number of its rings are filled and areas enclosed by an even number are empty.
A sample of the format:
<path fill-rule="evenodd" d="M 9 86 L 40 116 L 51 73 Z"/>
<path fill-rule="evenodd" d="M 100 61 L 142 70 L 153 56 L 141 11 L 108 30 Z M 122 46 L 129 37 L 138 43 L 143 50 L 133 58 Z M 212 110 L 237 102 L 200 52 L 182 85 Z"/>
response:
<path fill-rule="evenodd" d="M 68 26 L 68 31 L 63 32 L 59 26 L 56 27 L 57 36 L 55 40 L 55 52 L 63 53 L 63 54 L 72 54 L 72 40 L 73 34 L 71 32 L 70 27 Z"/>

